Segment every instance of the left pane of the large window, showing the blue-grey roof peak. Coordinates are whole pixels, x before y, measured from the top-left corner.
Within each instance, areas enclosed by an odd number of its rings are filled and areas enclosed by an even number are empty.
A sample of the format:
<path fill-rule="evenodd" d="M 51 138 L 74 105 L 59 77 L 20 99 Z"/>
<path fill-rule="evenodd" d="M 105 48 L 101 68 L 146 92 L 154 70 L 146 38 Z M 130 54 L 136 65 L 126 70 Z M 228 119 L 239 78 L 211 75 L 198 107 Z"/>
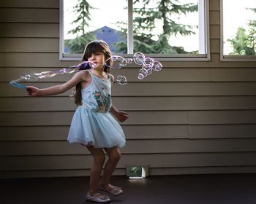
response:
<path fill-rule="evenodd" d="M 102 39 L 116 53 L 118 43 L 127 44 L 127 17 L 126 0 L 64 1 L 64 52 L 83 53 L 88 42 Z"/>

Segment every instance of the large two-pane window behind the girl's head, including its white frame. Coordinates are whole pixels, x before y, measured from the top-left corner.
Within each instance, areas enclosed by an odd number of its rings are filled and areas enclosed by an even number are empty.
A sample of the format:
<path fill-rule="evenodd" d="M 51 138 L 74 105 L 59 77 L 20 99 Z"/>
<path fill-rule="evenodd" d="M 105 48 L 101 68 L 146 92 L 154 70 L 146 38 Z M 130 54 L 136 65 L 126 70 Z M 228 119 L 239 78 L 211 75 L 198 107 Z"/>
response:
<path fill-rule="evenodd" d="M 124 57 L 208 60 L 207 8 L 208 0 L 60 0 L 60 59 L 80 60 L 103 39 Z"/>

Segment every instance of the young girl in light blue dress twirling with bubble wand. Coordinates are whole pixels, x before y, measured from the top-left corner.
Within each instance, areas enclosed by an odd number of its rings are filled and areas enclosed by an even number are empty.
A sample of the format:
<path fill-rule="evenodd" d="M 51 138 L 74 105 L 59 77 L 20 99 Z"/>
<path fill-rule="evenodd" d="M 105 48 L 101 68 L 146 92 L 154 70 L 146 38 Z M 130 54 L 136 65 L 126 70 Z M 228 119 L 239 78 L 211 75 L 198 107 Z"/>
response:
<path fill-rule="evenodd" d="M 73 98 L 78 105 L 70 125 L 69 143 L 79 143 L 86 146 L 94 156 L 94 163 L 90 173 L 90 189 L 86 200 L 97 203 L 108 203 L 110 197 L 102 195 L 99 190 L 110 195 L 120 195 L 120 187 L 110 184 L 110 177 L 121 157 L 119 148 L 125 145 L 124 132 L 111 112 L 120 122 L 128 119 L 128 114 L 118 111 L 111 102 L 111 83 L 113 75 L 109 74 L 112 60 L 110 48 L 103 41 L 90 42 L 83 53 L 83 61 L 93 63 L 93 68 L 81 70 L 72 79 L 62 85 L 45 89 L 27 87 L 31 96 L 56 95 L 75 87 Z M 106 61 L 107 60 L 107 61 Z M 105 153 L 108 162 L 105 164 Z"/>

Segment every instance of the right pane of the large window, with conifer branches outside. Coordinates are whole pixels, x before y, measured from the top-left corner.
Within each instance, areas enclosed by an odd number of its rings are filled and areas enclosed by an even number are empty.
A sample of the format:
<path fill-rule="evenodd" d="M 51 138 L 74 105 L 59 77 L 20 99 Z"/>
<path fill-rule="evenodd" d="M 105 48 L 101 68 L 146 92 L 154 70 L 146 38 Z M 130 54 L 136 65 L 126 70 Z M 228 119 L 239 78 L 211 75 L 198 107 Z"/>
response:
<path fill-rule="evenodd" d="M 198 54 L 198 0 L 137 0 L 133 6 L 134 52 Z"/>

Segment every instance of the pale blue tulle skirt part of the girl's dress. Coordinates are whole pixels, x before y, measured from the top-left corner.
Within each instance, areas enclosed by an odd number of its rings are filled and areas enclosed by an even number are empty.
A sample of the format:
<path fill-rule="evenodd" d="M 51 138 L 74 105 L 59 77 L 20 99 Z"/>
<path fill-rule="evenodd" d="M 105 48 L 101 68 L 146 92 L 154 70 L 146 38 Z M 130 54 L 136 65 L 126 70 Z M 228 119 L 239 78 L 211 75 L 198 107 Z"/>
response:
<path fill-rule="evenodd" d="M 95 148 L 125 146 L 124 131 L 109 112 L 90 111 L 84 106 L 75 111 L 67 141 Z"/>

